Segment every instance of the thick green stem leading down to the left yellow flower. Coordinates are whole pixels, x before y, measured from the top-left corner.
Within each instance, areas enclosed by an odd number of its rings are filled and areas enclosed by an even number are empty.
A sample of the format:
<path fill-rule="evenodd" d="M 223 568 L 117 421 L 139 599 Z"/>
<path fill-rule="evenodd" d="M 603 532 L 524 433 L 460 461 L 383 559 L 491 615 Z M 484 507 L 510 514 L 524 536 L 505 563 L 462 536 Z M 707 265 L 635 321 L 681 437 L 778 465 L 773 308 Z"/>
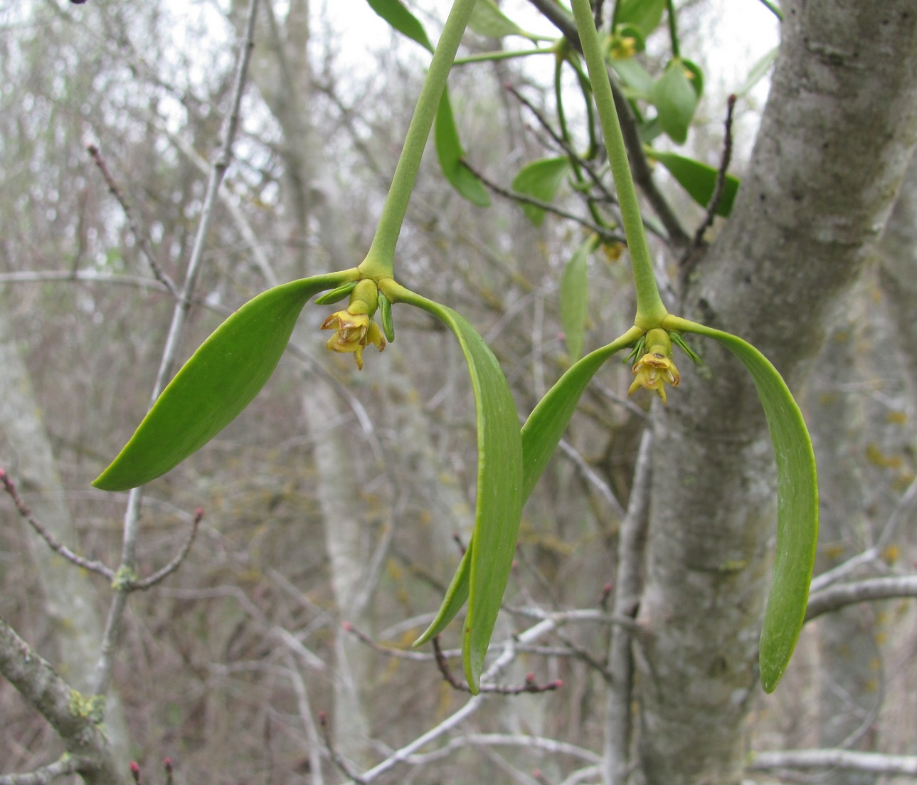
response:
<path fill-rule="evenodd" d="M 392 277 L 395 246 L 398 243 L 398 235 L 401 233 L 404 216 L 407 213 L 408 202 L 411 200 L 411 192 L 414 190 L 414 182 L 417 179 L 420 160 L 424 155 L 426 140 L 430 136 L 436 109 L 446 89 L 449 71 L 455 61 L 458 44 L 468 26 L 474 4 L 475 0 L 455 0 L 446 20 L 446 26 L 436 44 L 436 51 L 433 53 L 433 60 L 430 61 L 430 68 L 426 72 L 424 86 L 417 98 L 414 116 L 411 118 L 411 124 L 404 138 L 404 147 L 398 159 L 398 165 L 395 167 L 389 195 L 382 207 L 379 226 L 376 228 L 375 237 L 372 238 L 366 259 L 359 265 L 360 272 L 368 278 L 378 281 L 381 278 Z"/>

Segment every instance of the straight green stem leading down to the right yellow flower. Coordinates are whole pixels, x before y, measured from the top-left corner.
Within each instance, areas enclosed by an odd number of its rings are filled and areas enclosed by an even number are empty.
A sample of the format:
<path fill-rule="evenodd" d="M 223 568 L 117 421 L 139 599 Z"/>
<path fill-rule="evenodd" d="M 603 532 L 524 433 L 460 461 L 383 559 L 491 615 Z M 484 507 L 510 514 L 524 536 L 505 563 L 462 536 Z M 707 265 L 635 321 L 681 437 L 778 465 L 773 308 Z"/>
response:
<path fill-rule="evenodd" d="M 665 318 L 666 306 L 662 303 L 653 274 L 653 263 L 646 245 L 646 231 L 643 217 L 640 215 L 640 203 L 636 198 L 634 178 L 627 162 L 627 149 L 624 147 L 624 135 L 621 123 L 614 108 L 612 84 L 608 81 L 605 60 L 602 57 L 602 45 L 599 33 L 592 19 L 589 0 L 573 0 L 573 17 L 576 19 L 580 33 L 583 57 L 592 83 L 592 94 L 599 111 L 599 122 L 608 151 L 608 162 L 612 168 L 614 187 L 618 192 L 618 204 L 621 207 L 621 222 L 624 224 L 624 235 L 630 249 L 631 266 L 634 271 L 636 287 L 636 316 L 634 324 L 648 330 L 659 326 Z"/>

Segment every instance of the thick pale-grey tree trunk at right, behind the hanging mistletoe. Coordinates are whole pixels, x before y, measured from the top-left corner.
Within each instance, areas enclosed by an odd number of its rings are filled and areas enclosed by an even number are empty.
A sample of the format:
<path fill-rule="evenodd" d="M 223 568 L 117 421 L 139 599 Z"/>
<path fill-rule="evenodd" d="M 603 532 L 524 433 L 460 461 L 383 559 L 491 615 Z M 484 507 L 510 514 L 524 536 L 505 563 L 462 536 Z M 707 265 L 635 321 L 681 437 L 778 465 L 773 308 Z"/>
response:
<path fill-rule="evenodd" d="M 917 13 L 791 2 L 733 216 L 679 308 L 757 345 L 798 388 L 856 280 L 917 133 Z M 774 535 L 773 458 L 750 379 L 711 343 L 656 419 L 636 658 L 649 783 L 741 778 Z M 689 378 L 685 378 L 689 377 Z M 778 688 L 779 689 L 779 688 Z"/>

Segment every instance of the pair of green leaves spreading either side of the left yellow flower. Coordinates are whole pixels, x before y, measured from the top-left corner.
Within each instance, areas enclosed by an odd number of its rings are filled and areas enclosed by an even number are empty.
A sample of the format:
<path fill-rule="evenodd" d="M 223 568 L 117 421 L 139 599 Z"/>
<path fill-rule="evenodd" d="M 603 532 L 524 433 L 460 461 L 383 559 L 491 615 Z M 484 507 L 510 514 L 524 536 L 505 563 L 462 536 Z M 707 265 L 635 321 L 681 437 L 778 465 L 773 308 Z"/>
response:
<path fill-rule="evenodd" d="M 202 448 L 271 377 L 306 302 L 358 277 L 359 271 L 353 269 L 284 283 L 230 315 L 182 366 L 94 486 L 105 491 L 135 488 Z M 468 320 L 445 305 L 389 283 L 384 292 L 388 300 L 421 308 L 452 331 L 470 372 L 479 462 L 475 528 L 466 562 L 471 591 L 463 648 L 466 674 L 477 690 L 522 515 L 519 419 L 503 370 Z"/>

